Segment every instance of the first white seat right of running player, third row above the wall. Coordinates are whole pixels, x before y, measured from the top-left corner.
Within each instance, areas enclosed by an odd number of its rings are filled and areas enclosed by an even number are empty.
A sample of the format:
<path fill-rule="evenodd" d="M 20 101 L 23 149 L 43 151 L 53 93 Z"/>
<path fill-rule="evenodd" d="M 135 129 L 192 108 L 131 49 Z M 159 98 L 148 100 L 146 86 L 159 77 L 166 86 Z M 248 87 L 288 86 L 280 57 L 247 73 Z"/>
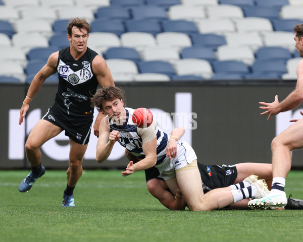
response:
<path fill-rule="evenodd" d="M 180 59 L 179 52 L 171 47 L 148 47 L 142 51 L 143 61 L 166 61 L 170 63 Z"/>

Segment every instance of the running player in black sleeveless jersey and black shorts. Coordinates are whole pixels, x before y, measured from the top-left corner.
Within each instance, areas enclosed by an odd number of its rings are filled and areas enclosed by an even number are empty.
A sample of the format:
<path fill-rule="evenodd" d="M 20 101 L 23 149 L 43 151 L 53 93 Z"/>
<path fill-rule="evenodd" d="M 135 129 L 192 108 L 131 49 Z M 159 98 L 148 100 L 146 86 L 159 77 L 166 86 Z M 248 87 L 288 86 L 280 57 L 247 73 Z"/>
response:
<path fill-rule="evenodd" d="M 67 26 L 70 46 L 49 56 L 46 65 L 33 78 L 20 110 L 19 124 L 21 125 L 30 102 L 45 79 L 57 72 L 59 85 L 55 103 L 34 126 L 25 144 L 26 156 L 32 171 L 22 180 L 19 191 L 29 191 L 35 180 L 45 173 L 41 165 L 39 148 L 64 130 L 70 140 L 67 187 L 62 202 L 64 207 L 75 206 L 73 190 L 82 174 L 83 156 L 93 122 L 90 98 L 98 84 L 101 87 L 114 86 L 111 71 L 104 58 L 87 47 L 89 31 L 90 26 L 84 18 L 70 20 Z M 94 124 L 96 136 L 102 117 L 99 113 Z"/>

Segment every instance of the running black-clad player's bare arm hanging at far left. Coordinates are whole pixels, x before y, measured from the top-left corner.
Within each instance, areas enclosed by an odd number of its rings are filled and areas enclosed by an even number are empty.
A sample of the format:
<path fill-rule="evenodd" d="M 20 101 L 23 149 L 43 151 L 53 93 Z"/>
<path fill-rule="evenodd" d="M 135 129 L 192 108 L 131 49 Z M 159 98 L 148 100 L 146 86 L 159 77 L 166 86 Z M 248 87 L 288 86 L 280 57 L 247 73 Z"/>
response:
<path fill-rule="evenodd" d="M 42 67 L 41 70 L 34 76 L 32 82 L 28 88 L 26 98 L 24 99 L 23 104 L 20 109 L 19 125 L 22 124 L 23 118 L 29 109 L 29 103 L 35 97 L 35 95 L 39 92 L 45 79 L 56 73 L 58 56 L 59 56 L 59 51 L 51 54 L 48 57 L 48 60 L 47 60 L 47 63 L 45 64 L 45 66 Z"/>

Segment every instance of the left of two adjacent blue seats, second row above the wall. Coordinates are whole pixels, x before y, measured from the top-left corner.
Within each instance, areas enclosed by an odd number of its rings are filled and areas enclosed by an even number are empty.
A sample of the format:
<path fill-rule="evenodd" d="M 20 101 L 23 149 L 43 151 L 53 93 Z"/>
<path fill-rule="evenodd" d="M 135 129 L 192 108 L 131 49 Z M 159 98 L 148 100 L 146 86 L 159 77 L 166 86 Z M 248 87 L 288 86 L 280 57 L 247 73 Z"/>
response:
<path fill-rule="evenodd" d="M 239 61 L 218 61 L 213 64 L 213 69 L 215 73 L 245 75 L 250 72 L 248 66 Z"/>

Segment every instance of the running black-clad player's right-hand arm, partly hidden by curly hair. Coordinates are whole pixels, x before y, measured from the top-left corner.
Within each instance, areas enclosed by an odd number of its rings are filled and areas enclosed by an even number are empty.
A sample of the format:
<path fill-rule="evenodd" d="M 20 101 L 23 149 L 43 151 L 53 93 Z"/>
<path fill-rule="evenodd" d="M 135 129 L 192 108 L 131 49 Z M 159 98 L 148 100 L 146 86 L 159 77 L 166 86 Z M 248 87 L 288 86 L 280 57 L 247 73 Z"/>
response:
<path fill-rule="evenodd" d="M 96 75 L 97 81 L 101 87 L 115 86 L 112 73 L 107 66 L 104 58 L 96 55 L 91 65 L 93 73 Z M 96 117 L 95 123 L 93 125 L 93 133 L 96 137 L 99 137 L 99 125 L 104 116 L 105 114 L 99 112 Z"/>

